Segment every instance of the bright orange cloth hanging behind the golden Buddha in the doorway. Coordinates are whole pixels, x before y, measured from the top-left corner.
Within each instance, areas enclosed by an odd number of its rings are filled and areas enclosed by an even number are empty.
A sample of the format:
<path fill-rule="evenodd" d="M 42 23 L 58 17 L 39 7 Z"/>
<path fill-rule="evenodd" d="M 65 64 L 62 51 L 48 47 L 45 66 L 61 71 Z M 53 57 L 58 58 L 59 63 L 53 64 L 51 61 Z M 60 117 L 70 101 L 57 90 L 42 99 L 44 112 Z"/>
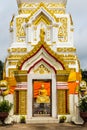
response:
<path fill-rule="evenodd" d="M 44 87 L 47 90 L 47 95 L 50 96 L 50 82 L 34 81 L 34 98 L 38 96 L 42 84 L 44 84 Z"/>

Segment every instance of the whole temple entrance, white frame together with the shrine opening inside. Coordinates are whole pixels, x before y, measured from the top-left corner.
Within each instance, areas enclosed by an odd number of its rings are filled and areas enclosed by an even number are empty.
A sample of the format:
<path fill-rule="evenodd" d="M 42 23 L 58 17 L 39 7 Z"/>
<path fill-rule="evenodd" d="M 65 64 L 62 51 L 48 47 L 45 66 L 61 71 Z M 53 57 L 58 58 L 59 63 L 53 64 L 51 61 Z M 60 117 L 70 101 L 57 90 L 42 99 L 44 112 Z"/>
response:
<path fill-rule="evenodd" d="M 42 83 L 44 84 L 47 92 L 45 93 L 44 98 L 39 97 L 39 91 L 35 91 L 35 86 L 38 86 L 40 90 Z M 36 85 L 35 85 L 36 84 Z M 46 84 L 48 85 L 49 91 L 46 88 Z M 37 88 L 37 87 L 36 87 Z M 42 92 L 41 92 L 42 93 Z M 49 100 L 50 99 L 50 100 Z M 41 103 L 40 103 L 41 101 Z M 43 101 L 43 102 L 42 102 Z M 50 101 L 50 102 L 49 102 Z M 43 104 L 44 103 L 44 104 Z M 41 111 L 38 111 L 38 110 Z M 56 105 L 56 76 L 55 74 L 28 74 L 28 90 L 27 90 L 27 120 L 30 120 L 32 117 L 57 117 L 57 105 Z M 35 118 L 36 119 L 36 118 Z"/>

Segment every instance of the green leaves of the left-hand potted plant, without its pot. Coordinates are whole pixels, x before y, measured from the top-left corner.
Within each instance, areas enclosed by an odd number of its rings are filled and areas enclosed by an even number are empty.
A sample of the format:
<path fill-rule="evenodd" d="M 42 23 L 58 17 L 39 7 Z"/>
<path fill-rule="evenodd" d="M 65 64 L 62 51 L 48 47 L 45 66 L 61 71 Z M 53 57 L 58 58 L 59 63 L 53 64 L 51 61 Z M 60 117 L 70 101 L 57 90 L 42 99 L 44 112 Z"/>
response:
<path fill-rule="evenodd" d="M 0 112 L 10 112 L 13 104 L 10 103 L 8 100 L 3 100 L 0 102 Z"/>

